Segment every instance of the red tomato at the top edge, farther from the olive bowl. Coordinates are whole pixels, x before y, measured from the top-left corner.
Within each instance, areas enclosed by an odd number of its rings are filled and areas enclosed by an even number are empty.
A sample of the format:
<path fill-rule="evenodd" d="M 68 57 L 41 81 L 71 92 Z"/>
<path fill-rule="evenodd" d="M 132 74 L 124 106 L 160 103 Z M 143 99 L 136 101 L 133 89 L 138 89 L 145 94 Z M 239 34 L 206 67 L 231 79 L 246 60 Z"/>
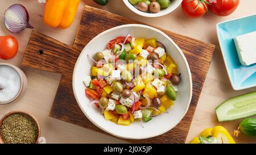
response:
<path fill-rule="evenodd" d="M 237 9 L 238 4 L 239 0 L 216 0 L 216 3 L 210 3 L 209 8 L 215 15 L 227 16 Z"/>

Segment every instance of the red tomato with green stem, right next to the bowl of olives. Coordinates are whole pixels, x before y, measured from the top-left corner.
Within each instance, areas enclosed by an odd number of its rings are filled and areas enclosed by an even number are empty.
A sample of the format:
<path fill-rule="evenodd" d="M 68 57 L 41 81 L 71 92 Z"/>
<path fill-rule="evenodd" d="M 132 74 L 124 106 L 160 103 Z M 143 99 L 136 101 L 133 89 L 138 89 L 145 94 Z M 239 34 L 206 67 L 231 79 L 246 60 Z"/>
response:
<path fill-rule="evenodd" d="M 189 18 L 199 18 L 207 12 L 208 0 L 183 0 L 182 11 Z"/>

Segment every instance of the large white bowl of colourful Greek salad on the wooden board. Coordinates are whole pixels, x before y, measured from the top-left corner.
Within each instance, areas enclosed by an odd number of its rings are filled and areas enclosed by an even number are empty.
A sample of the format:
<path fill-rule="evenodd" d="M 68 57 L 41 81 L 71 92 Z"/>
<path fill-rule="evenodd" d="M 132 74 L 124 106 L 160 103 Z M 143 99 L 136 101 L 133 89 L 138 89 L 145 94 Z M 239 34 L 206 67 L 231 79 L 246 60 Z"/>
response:
<path fill-rule="evenodd" d="M 85 46 L 73 72 L 73 91 L 97 127 L 124 139 L 147 139 L 183 119 L 192 78 L 183 52 L 164 32 L 127 24 Z"/>

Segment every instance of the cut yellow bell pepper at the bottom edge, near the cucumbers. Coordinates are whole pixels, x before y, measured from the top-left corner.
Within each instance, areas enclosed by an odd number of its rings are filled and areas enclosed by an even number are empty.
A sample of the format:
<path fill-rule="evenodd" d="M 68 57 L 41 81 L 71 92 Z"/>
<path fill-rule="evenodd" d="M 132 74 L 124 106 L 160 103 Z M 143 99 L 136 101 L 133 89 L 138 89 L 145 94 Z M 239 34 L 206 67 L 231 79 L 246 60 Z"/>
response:
<path fill-rule="evenodd" d="M 207 143 L 220 143 L 220 144 L 235 144 L 236 142 L 230 136 L 229 132 L 221 126 L 205 129 L 200 133 L 199 137 L 191 140 L 191 144 L 207 144 Z"/>

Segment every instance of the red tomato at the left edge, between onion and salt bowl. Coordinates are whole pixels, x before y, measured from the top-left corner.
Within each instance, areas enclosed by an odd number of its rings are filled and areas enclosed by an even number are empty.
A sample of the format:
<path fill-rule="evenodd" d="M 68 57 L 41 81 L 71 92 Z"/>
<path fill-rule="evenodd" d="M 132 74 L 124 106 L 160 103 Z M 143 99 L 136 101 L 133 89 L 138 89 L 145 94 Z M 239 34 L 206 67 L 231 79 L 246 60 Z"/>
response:
<path fill-rule="evenodd" d="M 9 60 L 13 58 L 19 49 L 18 41 L 13 36 L 0 36 L 0 58 Z"/>

